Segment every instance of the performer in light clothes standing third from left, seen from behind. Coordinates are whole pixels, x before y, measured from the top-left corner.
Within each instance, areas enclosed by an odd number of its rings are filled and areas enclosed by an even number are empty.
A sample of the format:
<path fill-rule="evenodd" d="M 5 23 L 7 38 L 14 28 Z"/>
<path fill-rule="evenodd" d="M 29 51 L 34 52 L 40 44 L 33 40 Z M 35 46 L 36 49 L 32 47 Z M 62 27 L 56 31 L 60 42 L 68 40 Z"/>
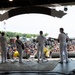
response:
<path fill-rule="evenodd" d="M 43 36 L 43 31 L 40 31 L 40 35 L 37 37 L 36 39 L 38 46 L 37 46 L 37 56 L 38 56 L 38 63 L 40 61 L 40 57 L 41 57 L 41 61 L 43 62 L 44 59 L 44 45 L 46 42 L 46 38 Z"/>

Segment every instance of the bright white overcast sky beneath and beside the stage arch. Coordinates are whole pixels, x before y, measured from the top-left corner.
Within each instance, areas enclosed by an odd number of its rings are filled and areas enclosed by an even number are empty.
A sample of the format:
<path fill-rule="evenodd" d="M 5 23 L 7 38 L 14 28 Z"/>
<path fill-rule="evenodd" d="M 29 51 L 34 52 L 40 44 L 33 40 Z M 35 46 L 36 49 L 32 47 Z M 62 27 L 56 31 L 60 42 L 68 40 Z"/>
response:
<path fill-rule="evenodd" d="M 64 7 L 54 7 L 64 11 Z M 65 12 L 65 11 L 64 11 Z M 13 16 L 0 22 L 1 31 L 11 31 L 29 34 L 48 33 L 49 37 L 57 38 L 59 28 L 63 27 L 69 37 L 75 37 L 75 6 L 68 6 L 67 13 L 62 18 L 52 17 L 45 14 L 22 14 Z M 5 22 L 5 24 L 4 24 Z"/>

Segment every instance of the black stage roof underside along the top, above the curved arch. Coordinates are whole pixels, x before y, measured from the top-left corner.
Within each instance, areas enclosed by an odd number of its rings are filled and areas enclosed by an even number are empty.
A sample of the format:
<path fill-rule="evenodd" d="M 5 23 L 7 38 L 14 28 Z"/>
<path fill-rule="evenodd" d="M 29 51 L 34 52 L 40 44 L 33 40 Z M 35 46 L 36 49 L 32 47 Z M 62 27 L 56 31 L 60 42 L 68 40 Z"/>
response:
<path fill-rule="evenodd" d="M 21 7 L 21 6 L 65 6 L 75 5 L 74 0 L 0 0 L 0 8 Z"/>

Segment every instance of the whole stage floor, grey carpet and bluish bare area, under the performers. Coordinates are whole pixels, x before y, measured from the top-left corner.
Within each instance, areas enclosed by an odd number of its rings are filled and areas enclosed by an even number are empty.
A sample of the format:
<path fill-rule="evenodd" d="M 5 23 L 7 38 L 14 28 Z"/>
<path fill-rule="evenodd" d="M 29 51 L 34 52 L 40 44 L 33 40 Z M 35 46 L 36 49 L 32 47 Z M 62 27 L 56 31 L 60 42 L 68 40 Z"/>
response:
<path fill-rule="evenodd" d="M 54 66 L 53 66 L 54 65 Z M 5 68 L 6 67 L 6 68 Z M 75 69 L 75 59 L 69 58 L 69 62 L 59 63 L 59 58 L 49 58 L 43 63 L 37 60 L 23 60 L 23 63 L 0 63 L 0 73 L 7 75 L 71 75 Z M 72 74 L 73 75 L 73 74 Z"/>

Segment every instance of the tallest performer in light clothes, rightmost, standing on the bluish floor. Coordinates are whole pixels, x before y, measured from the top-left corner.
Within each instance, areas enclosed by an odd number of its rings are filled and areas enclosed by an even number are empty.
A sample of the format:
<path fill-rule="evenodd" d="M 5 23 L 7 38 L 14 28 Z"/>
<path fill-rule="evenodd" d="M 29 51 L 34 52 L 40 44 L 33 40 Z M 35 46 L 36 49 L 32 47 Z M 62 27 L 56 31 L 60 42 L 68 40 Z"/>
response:
<path fill-rule="evenodd" d="M 66 63 L 68 63 L 67 41 L 69 40 L 69 37 L 64 33 L 63 28 L 60 28 L 59 30 L 58 42 L 60 43 L 60 63 L 63 63 L 63 52 L 65 54 Z"/>

